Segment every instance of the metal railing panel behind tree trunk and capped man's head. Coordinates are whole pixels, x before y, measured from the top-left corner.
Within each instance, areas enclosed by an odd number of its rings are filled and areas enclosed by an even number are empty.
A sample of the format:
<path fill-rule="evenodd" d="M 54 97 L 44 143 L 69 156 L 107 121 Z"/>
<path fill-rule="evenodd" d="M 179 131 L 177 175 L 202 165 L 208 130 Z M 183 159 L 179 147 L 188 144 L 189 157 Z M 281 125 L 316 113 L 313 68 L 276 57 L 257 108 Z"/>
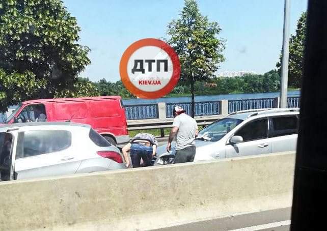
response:
<path fill-rule="evenodd" d="M 191 114 L 192 103 L 166 103 L 166 117 L 173 118 L 173 109 L 180 105 L 188 115 Z M 221 114 L 221 101 L 195 102 L 195 116 L 213 116 Z"/>

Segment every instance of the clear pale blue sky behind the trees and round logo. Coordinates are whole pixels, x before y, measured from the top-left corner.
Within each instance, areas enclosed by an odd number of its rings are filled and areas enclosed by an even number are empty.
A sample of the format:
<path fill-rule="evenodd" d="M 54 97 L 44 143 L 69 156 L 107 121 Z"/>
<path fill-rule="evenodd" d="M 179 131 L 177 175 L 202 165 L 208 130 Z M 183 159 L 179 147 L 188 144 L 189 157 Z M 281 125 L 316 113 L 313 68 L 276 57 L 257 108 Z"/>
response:
<path fill-rule="evenodd" d="M 90 47 L 91 64 L 80 77 L 120 80 L 124 50 L 143 38 L 167 37 L 167 25 L 178 19 L 184 0 L 63 0 L 81 28 L 81 45 Z M 307 9 L 307 0 L 290 0 L 290 33 Z M 223 71 L 255 71 L 276 67 L 282 49 L 284 0 L 198 0 L 202 15 L 222 28 L 226 40 Z"/>

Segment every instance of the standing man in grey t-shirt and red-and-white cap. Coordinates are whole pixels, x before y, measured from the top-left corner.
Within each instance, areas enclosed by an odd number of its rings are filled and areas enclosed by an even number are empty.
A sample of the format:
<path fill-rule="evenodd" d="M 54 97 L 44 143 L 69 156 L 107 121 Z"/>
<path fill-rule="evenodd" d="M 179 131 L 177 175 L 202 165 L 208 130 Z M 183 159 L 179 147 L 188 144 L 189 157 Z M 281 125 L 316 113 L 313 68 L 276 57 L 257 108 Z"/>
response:
<path fill-rule="evenodd" d="M 173 115 L 175 119 L 169 134 L 167 151 L 170 152 L 172 141 L 176 137 L 175 163 L 193 162 L 196 153 L 195 138 L 198 136 L 197 122 L 181 106 L 174 108 Z"/>

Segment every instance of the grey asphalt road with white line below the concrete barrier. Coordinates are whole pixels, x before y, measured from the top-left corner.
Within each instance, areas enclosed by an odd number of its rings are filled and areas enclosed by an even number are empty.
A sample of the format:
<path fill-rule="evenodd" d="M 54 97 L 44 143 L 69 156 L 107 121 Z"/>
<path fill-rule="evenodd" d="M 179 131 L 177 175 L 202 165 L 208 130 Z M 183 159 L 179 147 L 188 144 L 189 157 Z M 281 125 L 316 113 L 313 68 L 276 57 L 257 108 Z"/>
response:
<path fill-rule="evenodd" d="M 291 209 L 270 210 L 200 221 L 155 231 L 289 231 Z"/>

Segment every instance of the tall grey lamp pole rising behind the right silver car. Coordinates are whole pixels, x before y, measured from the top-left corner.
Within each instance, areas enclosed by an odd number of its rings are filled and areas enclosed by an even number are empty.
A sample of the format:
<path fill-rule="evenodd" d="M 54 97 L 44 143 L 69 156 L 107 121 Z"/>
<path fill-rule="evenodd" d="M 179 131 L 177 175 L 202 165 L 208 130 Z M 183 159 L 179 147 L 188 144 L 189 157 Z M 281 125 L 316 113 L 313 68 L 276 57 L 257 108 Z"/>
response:
<path fill-rule="evenodd" d="M 287 80 L 288 80 L 288 45 L 289 45 L 289 15 L 290 0 L 284 4 L 284 30 L 283 30 L 283 53 L 282 53 L 282 79 L 280 89 L 280 107 L 285 108 L 287 102 Z"/>

